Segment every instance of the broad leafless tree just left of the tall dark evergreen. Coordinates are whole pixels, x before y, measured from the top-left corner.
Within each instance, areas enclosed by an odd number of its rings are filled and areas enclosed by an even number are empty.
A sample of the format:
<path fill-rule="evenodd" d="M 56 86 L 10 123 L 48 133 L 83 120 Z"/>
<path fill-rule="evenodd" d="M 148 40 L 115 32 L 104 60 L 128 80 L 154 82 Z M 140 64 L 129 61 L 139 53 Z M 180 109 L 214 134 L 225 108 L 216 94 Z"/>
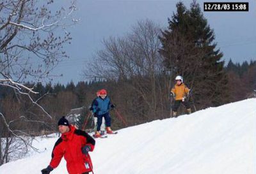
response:
<path fill-rule="evenodd" d="M 124 82 L 136 94 L 134 108 L 145 120 L 156 119 L 159 98 L 161 57 L 158 39 L 160 27 L 150 20 L 140 21 L 131 33 L 122 38 L 104 40 L 100 50 L 84 70 L 86 78 L 101 78 Z"/>

